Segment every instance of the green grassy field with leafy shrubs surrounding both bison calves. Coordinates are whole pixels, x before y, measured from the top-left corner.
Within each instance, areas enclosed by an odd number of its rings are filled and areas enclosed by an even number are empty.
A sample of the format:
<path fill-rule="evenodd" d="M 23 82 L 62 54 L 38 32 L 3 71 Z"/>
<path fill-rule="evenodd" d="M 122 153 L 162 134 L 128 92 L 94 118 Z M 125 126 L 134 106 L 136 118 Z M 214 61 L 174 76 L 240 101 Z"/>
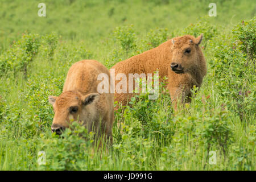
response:
<path fill-rule="evenodd" d="M 255 170 L 255 1 L 216 1 L 216 17 L 204 0 L 48 0 L 46 17 L 38 3 L 0 2 L 0 170 Z M 51 133 L 48 96 L 73 63 L 110 68 L 201 33 L 208 73 L 184 109 L 168 94 L 131 100 L 115 113 L 108 150 L 76 123 L 63 138 Z"/>

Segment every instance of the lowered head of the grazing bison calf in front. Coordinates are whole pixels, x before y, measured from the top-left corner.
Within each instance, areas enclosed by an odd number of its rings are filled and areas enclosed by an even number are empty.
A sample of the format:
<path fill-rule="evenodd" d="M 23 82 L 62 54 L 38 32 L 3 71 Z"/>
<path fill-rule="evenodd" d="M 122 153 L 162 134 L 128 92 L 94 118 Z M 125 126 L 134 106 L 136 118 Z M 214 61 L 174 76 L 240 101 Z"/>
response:
<path fill-rule="evenodd" d="M 49 96 L 49 103 L 52 104 L 55 113 L 51 126 L 52 132 L 61 134 L 72 122 L 83 122 L 84 118 L 90 118 L 92 106 L 99 97 L 98 93 L 82 96 L 79 92 L 73 91 L 61 93 L 59 97 Z"/>

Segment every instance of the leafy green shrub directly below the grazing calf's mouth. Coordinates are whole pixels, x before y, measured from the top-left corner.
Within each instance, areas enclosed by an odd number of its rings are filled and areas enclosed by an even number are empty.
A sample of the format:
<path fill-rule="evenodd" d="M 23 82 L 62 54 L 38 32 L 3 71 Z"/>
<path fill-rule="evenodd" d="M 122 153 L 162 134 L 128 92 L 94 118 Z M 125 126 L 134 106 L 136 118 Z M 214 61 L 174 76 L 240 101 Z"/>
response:
<path fill-rule="evenodd" d="M 47 170 L 86 170 L 88 166 L 85 161 L 90 160 L 90 147 L 93 140 L 93 133 L 88 133 L 84 126 L 79 123 L 72 123 L 73 130 L 66 129 L 61 137 L 55 133 L 42 134 L 42 143 L 39 144 L 39 151 L 46 152 L 46 165 L 40 169 Z M 85 138 L 88 138 L 85 140 Z M 90 152 L 88 152 L 90 150 Z"/>

